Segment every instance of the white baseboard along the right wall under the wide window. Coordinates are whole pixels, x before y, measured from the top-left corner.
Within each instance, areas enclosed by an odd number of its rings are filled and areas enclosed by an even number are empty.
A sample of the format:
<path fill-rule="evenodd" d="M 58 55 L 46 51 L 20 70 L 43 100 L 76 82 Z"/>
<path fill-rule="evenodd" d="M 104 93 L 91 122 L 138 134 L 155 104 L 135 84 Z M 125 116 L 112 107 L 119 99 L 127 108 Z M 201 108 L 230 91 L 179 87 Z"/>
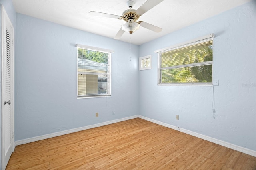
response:
<path fill-rule="evenodd" d="M 172 128 L 174 130 L 178 130 L 176 126 L 173 126 L 173 125 L 169 125 L 167 123 L 163 123 L 163 122 L 160 122 L 160 121 L 156 121 L 154 119 L 150 119 L 148 117 L 144 117 L 144 116 L 141 116 L 139 115 L 138 116 L 139 118 L 141 119 L 145 119 L 147 121 L 150 121 L 150 122 L 153 122 L 153 123 L 156 123 L 158 125 L 162 125 L 164 127 L 168 127 L 168 128 Z M 245 154 L 248 154 L 248 155 L 251 155 L 251 156 L 254 156 L 256 157 L 256 151 L 254 150 L 250 150 L 250 149 L 247 149 L 247 148 L 243 148 L 241 146 L 237 146 L 235 144 L 231 144 L 231 143 L 228 143 L 228 142 L 224 142 L 222 140 L 218 140 L 218 139 L 215 139 L 215 138 L 211 138 L 209 136 L 205 136 L 205 135 L 202 135 L 202 134 L 199 134 L 199 133 L 196 133 L 196 132 L 192 132 L 190 130 L 186 130 L 184 128 L 180 128 L 180 130 L 178 130 L 180 132 L 183 132 L 183 133 L 186 133 L 186 134 L 190 134 L 192 136 L 195 136 L 195 137 L 198 137 L 198 138 L 201 138 L 201 139 L 204 139 L 204 140 L 207 140 L 209 142 L 213 142 L 213 143 L 216 143 L 216 144 L 219 144 L 221 146 L 225 146 L 227 148 L 230 148 L 230 149 L 234 149 L 234 150 L 237 150 L 239 152 L 242 152 L 242 153 L 245 153 Z"/>

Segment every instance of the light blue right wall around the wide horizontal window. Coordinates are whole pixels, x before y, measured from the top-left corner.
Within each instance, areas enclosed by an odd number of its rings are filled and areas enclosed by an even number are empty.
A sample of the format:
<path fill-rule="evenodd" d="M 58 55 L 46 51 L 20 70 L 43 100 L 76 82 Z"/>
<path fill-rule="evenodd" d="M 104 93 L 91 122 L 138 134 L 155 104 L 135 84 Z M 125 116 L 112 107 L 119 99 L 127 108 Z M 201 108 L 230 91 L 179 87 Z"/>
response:
<path fill-rule="evenodd" d="M 140 115 L 256 150 L 256 1 L 140 45 L 152 69 L 139 72 Z M 210 33 L 214 38 L 213 87 L 158 86 L 157 49 Z M 175 115 L 180 115 L 176 120 Z"/>

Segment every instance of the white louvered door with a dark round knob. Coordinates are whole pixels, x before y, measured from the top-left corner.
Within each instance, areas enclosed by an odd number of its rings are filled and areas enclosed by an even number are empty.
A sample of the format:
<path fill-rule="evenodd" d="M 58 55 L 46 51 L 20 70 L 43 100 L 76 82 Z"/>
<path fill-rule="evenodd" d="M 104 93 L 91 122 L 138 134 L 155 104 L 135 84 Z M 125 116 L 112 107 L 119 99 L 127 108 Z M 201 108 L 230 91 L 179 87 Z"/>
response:
<path fill-rule="evenodd" d="M 4 170 L 14 151 L 14 28 L 1 5 L 1 163 Z"/>

